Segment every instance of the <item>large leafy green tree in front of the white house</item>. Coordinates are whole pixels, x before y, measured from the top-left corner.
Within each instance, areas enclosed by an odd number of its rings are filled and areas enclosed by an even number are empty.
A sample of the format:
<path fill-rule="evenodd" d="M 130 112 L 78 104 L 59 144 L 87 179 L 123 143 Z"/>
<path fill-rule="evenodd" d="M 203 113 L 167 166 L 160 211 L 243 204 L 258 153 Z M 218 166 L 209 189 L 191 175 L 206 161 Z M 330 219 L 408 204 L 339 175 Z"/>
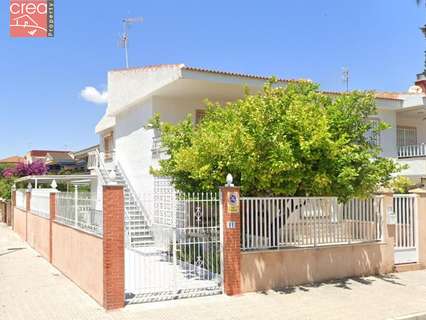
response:
<path fill-rule="evenodd" d="M 212 191 L 234 176 L 245 195 L 367 196 L 397 171 L 380 158 L 367 138 L 388 126 L 374 126 L 372 93 L 330 97 L 310 82 L 285 88 L 267 83 L 256 95 L 221 106 L 207 102 L 194 126 L 192 117 L 159 128 L 170 157 L 155 175 L 170 176 L 182 191 Z"/>

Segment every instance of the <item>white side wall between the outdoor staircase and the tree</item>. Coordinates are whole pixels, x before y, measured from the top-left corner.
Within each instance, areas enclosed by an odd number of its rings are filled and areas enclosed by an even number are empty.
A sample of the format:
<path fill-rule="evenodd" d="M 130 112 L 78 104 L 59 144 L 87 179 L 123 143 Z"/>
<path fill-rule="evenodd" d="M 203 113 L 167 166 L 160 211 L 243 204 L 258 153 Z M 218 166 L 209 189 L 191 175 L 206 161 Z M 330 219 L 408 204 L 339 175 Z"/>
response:
<path fill-rule="evenodd" d="M 153 177 L 149 174 L 153 130 L 144 128 L 152 115 L 152 100 L 149 99 L 120 113 L 114 128 L 116 161 L 139 197 L 153 192 L 154 186 Z"/>

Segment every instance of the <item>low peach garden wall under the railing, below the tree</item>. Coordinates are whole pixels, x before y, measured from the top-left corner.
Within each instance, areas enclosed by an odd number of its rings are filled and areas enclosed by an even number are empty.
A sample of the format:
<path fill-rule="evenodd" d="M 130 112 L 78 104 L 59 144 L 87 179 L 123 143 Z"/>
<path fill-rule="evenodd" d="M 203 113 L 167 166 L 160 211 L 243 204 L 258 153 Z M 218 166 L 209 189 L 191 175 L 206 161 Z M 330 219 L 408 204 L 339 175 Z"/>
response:
<path fill-rule="evenodd" d="M 392 242 L 242 252 L 241 291 L 392 272 Z"/>

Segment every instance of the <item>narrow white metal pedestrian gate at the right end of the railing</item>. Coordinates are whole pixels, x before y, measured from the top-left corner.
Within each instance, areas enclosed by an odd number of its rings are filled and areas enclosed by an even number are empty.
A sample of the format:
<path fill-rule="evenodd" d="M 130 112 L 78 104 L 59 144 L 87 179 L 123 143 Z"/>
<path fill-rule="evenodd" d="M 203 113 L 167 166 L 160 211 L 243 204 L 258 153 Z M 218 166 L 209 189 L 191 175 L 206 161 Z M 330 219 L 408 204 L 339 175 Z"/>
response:
<path fill-rule="evenodd" d="M 394 195 L 395 264 L 418 261 L 418 219 L 416 195 Z"/>

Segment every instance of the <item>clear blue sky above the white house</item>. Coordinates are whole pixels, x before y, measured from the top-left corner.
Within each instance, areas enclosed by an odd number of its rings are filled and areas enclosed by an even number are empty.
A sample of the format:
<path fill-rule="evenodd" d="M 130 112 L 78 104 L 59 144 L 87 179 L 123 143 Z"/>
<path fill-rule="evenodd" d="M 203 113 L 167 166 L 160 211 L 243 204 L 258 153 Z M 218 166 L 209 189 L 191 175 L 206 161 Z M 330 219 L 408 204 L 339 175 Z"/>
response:
<path fill-rule="evenodd" d="M 85 86 L 106 89 L 123 67 L 121 19 L 130 30 L 130 65 L 185 63 L 227 71 L 309 78 L 342 90 L 404 91 L 423 69 L 415 0 L 82 1 L 58 0 L 53 39 L 9 37 L 9 1 L 0 7 L 0 158 L 29 149 L 96 144 L 104 105 L 83 100 Z"/>

